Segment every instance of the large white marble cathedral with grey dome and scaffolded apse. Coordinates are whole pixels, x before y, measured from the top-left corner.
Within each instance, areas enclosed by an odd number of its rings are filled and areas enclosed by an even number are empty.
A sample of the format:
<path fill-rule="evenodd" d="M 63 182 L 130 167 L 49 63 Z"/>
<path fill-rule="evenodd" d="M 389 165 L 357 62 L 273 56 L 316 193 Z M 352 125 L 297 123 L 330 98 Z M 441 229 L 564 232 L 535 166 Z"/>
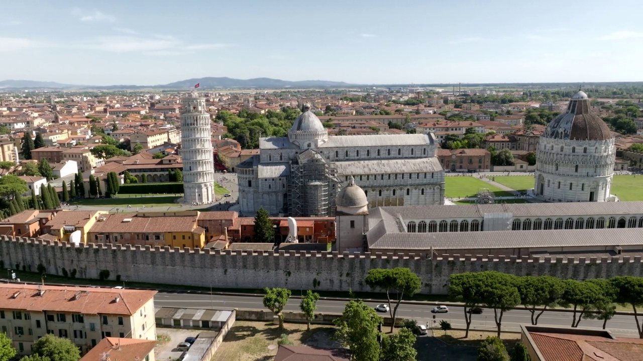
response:
<path fill-rule="evenodd" d="M 332 216 L 354 182 L 368 207 L 444 203 L 444 170 L 430 134 L 329 136 L 305 106 L 287 137 L 259 140 L 260 154 L 237 165 L 242 213 Z"/>

